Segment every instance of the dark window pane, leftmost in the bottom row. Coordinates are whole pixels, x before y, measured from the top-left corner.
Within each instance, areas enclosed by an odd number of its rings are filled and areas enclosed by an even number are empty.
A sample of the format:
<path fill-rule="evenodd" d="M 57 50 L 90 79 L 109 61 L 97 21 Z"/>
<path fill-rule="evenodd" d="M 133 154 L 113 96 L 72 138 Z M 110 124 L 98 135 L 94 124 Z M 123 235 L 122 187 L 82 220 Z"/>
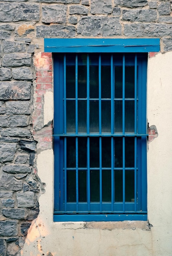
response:
<path fill-rule="evenodd" d="M 67 171 L 67 202 L 76 202 L 76 173 Z"/>

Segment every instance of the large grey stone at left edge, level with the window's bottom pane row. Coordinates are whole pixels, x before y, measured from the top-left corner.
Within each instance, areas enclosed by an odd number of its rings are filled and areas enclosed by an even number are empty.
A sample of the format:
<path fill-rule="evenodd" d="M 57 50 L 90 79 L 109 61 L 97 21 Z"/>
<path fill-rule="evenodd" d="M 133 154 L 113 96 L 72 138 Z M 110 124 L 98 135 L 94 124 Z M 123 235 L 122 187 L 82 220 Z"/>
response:
<path fill-rule="evenodd" d="M 16 180 L 13 175 L 8 173 L 2 173 L 0 178 L 0 189 L 1 190 L 22 190 L 22 180 Z"/>

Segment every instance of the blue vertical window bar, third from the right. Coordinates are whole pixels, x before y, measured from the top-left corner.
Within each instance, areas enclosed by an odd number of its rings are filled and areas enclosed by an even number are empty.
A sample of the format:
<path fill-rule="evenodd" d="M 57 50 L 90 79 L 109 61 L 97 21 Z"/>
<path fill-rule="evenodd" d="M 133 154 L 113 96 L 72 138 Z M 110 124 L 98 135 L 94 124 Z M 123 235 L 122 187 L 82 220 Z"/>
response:
<path fill-rule="evenodd" d="M 110 56 L 110 90 L 111 90 L 111 134 L 114 134 L 114 119 L 115 119 L 115 70 L 113 67 L 113 55 Z M 114 138 L 111 137 L 111 211 L 114 211 L 114 202 L 115 202 L 115 184 L 114 184 Z"/>

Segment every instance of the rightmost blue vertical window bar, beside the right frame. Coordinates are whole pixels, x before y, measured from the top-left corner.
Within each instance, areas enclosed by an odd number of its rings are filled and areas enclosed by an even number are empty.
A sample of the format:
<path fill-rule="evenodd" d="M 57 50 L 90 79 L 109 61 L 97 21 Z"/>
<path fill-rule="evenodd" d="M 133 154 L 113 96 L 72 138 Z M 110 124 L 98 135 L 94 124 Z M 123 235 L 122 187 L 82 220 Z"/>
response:
<path fill-rule="evenodd" d="M 137 54 L 135 54 L 135 134 L 137 133 Z M 135 136 L 135 212 L 137 211 L 137 137 Z"/>

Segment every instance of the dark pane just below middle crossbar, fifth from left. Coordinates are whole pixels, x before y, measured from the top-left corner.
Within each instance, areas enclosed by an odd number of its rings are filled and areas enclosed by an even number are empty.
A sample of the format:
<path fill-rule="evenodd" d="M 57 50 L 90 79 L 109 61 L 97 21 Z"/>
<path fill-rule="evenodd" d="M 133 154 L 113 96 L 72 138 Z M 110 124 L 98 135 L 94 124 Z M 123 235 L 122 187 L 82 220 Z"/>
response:
<path fill-rule="evenodd" d="M 123 149 L 122 138 L 121 137 L 115 138 L 115 168 L 123 167 L 122 166 L 123 165 L 122 149 Z"/>

